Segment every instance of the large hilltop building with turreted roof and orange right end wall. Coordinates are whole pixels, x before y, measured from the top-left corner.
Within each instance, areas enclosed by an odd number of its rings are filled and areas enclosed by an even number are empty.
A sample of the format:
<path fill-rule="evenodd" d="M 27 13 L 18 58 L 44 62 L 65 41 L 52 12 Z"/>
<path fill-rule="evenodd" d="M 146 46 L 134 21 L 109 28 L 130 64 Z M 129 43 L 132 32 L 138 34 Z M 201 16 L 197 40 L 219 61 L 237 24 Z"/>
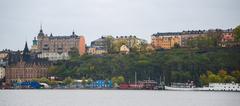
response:
<path fill-rule="evenodd" d="M 37 43 L 37 50 L 36 50 Z M 42 28 L 37 35 L 37 40 L 33 40 L 33 51 L 39 52 L 38 57 L 50 60 L 68 59 L 68 53 L 72 48 L 77 48 L 80 55 L 85 53 L 85 38 L 78 36 L 73 31 L 70 36 L 50 36 L 43 33 Z M 61 57 L 62 56 L 62 57 Z"/>

